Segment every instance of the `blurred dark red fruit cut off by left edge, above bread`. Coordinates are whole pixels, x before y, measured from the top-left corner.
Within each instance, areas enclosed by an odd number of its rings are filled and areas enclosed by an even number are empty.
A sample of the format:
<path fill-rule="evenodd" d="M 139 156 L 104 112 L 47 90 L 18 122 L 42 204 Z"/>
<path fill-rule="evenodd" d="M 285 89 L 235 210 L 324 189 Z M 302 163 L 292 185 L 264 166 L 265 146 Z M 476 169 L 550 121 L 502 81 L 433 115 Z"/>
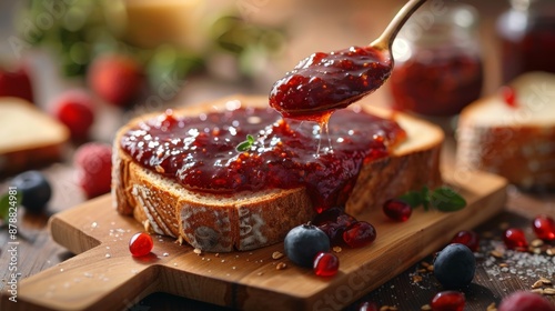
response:
<path fill-rule="evenodd" d="M 17 97 L 33 102 L 31 79 L 24 67 L 16 71 L 0 69 L 0 97 Z"/>

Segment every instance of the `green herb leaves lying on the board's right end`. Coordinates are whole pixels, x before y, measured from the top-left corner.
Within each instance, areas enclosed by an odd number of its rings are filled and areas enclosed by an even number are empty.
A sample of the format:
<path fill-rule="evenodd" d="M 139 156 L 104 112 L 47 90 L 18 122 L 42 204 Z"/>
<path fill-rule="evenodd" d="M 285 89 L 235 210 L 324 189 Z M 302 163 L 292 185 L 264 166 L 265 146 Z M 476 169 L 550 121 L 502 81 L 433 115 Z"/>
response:
<path fill-rule="evenodd" d="M 442 185 L 433 191 L 427 187 L 423 187 L 420 191 L 408 191 L 398 197 L 398 199 L 405 201 L 413 209 L 422 205 L 426 211 L 433 208 L 442 212 L 454 212 L 466 207 L 466 200 L 446 185 Z"/>

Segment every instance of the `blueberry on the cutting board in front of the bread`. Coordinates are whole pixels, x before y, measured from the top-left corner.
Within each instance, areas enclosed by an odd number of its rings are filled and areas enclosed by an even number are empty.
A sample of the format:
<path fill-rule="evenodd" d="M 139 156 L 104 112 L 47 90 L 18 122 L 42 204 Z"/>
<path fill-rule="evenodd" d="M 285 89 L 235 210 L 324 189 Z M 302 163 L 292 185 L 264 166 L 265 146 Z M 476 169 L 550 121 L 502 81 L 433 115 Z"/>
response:
<path fill-rule="evenodd" d="M 297 225 L 285 235 L 285 254 L 295 264 L 312 268 L 319 252 L 330 251 L 330 239 L 313 224 Z"/>

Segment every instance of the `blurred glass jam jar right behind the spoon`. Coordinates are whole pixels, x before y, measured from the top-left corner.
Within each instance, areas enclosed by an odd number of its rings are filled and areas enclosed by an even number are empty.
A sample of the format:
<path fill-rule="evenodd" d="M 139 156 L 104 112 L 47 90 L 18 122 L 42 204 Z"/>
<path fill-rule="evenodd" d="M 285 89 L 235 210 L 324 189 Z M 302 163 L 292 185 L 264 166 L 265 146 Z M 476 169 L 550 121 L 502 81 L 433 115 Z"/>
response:
<path fill-rule="evenodd" d="M 461 3 L 423 6 L 408 20 L 393 44 L 394 109 L 452 117 L 481 96 L 477 23 L 477 11 Z"/>

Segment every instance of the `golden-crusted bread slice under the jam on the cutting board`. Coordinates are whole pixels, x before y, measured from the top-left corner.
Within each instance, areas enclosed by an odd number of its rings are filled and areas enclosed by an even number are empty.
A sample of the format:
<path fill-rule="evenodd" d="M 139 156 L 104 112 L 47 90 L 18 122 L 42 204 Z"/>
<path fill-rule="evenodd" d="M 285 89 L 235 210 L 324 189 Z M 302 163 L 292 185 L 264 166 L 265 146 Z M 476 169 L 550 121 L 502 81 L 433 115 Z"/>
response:
<path fill-rule="evenodd" d="M 198 116 L 223 108 L 231 100 L 239 100 L 243 107 L 268 107 L 265 97 L 235 96 L 173 113 Z M 444 134 L 438 127 L 402 113 L 371 107 L 363 109 L 379 117 L 395 118 L 407 132 L 407 139 L 391 157 L 363 167 L 346 202 L 347 212 L 356 214 L 411 189 L 441 183 L 438 165 Z M 244 251 L 278 243 L 291 228 L 315 215 L 304 188 L 243 191 L 230 195 L 200 193 L 144 169 L 119 142 L 137 122 L 157 116 L 159 113 L 132 120 L 115 137 L 112 195 L 120 213 L 133 215 L 153 232 L 212 252 Z"/>

